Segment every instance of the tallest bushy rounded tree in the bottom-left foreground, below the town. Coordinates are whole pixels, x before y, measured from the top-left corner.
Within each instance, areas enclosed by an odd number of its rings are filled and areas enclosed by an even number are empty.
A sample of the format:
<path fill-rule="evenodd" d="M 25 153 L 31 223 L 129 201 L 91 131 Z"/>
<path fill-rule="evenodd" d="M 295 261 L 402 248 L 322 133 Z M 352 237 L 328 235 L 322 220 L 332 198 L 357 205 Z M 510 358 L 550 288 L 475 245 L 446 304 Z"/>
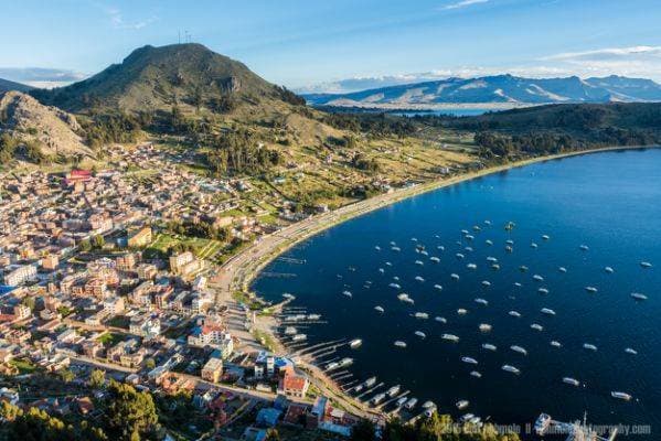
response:
<path fill-rule="evenodd" d="M 110 380 L 106 399 L 106 424 L 110 439 L 139 440 L 158 422 L 151 394 L 137 391 L 131 385 Z"/>

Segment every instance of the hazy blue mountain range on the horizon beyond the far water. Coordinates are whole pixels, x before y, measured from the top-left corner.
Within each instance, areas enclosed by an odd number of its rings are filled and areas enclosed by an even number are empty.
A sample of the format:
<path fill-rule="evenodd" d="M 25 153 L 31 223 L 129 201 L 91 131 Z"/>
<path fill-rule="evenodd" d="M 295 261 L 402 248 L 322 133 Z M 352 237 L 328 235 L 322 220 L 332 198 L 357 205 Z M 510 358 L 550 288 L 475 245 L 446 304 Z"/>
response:
<path fill-rule="evenodd" d="M 313 106 L 434 108 L 447 104 L 499 104 L 515 107 L 557 103 L 661 101 L 661 85 L 651 79 L 615 75 L 587 79 L 577 76 L 523 78 L 495 75 L 448 78 L 349 94 L 309 94 L 303 97 Z"/>

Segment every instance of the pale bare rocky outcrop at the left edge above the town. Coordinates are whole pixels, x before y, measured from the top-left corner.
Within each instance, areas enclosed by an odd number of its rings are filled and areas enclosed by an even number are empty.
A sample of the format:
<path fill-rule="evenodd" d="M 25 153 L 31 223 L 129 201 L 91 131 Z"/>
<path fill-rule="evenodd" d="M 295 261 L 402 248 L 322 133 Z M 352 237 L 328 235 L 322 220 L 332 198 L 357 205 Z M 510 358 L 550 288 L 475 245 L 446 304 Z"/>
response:
<path fill-rule="evenodd" d="M 0 132 L 21 142 L 36 141 L 45 155 L 92 155 L 73 115 L 21 92 L 0 93 Z"/>

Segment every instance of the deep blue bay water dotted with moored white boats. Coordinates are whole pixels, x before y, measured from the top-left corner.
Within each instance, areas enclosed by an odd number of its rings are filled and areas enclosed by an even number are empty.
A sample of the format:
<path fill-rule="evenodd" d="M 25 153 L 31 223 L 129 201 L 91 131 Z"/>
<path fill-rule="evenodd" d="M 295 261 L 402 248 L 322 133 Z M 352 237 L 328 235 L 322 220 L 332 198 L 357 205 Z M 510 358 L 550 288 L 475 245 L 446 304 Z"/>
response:
<path fill-rule="evenodd" d="M 504 225 L 510 220 L 516 226 L 508 232 Z M 475 225 L 481 230 L 473 230 Z M 462 229 L 475 239 L 468 240 Z M 344 347 L 333 355 L 355 359 L 349 368 L 355 378 L 376 375 L 388 386 L 401 384 L 420 402 L 435 401 L 441 412 L 525 423 L 542 411 L 564 421 L 587 411 L 593 423 L 651 424 L 651 435 L 635 439 L 661 439 L 660 232 L 661 150 L 586 154 L 460 183 L 341 224 L 286 254 L 306 259 L 305 265 L 276 260 L 266 269 L 296 278 L 258 278 L 253 288 L 274 301 L 284 292 L 294 293 L 291 306 L 322 314 L 328 323 L 299 330 L 310 344 L 361 337 L 359 349 Z M 505 250 L 509 239 L 514 241 L 513 252 Z M 402 250 L 391 250 L 391 241 Z M 537 248 L 531 247 L 533 241 Z M 582 244 L 589 250 L 580 250 Z M 416 245 L 424 245 L 428 256 L 416 252 Z M 440 262 L 430 261 L 431 256 Z M 487 257 L 497 258 L 501 269 L 490 268 Z M 643 269 L 641 261 L 653 267 Z M 468 269 L 469 262 L 477 269 Z M 529 267 L 526 272 L 520 270 L 522 265 Z M 558 271 L 561 266 L 566 273 Z M 615 272 L 606 272 L 607 266 Z M 452 280 L 451 273 L 460 280 Z M 544 281 L 535 281 L 533 275 Z M 388 287 L 393 277 L 399 278 L 402 289 Z M 484 280 L 491 287 L 484 287 Z M 434 284 L 441 284 L 443 291 Z M 598 292 L 587 292 L 587 286 Z M 343 295 L 344 290 L 353 298 Z M 415 304 L 398 301 L 402 292 Z M 637 302 L 631 292 L 649 300 Z M 476 298 L 489 304 L 476 303 Z M 375 305 L 385 313 L 374 311 Z M 556 315 L 541 313 L 543 308 Z M 459 315 L 458 309 L 468 312 Z M 511 310 L 522 316 L 509 315 Z M 415 319 L 418 311 L 427 312 L 429 320 Z M 436 322 L 437 315 L 447 323 Z M 491 332 L 480 332 L 481 323 L 490 324 Z M 533 323 L 543 331 L 531 329 Z M 460 341 L 444 341 L 443 333 Z M 407 347 L 396 348 L 397 340 Z M 563 346 L 553 347 L 552 340 Z M 484 351 L 483 343 L 498 351 Z M 598 349 L 587 351 L 584 343 Z M 511 351 L 511 345 L 524 347 L 527 355 Z M 638 355 L 625 353 L 627 347 Z M 478 365 L 462 363 L 463 356 Z M 503 364 L 521 374 L 503 372 Z M 471 370 L 482 377 L 472 377 Z M 563 384 L 565 376 L 582 386 Z M 610 396 L 614 390 L 633 399 L 617 400 Z M 459 399 L 470 406 L 457 410 Z"/>

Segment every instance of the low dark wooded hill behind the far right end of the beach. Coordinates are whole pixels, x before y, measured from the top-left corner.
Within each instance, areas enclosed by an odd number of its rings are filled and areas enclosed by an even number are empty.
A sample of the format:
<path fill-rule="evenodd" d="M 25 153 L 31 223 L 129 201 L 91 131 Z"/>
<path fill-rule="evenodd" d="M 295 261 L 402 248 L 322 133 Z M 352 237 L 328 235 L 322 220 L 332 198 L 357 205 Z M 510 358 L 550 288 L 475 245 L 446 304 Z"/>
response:
<path fill-rule="evenodd" d="M 419 116 L 416 122 L 475 133 L 480 155 L 510 158 L 661 143 L 661 104 L 529 107 L 477 117 Z"/>

